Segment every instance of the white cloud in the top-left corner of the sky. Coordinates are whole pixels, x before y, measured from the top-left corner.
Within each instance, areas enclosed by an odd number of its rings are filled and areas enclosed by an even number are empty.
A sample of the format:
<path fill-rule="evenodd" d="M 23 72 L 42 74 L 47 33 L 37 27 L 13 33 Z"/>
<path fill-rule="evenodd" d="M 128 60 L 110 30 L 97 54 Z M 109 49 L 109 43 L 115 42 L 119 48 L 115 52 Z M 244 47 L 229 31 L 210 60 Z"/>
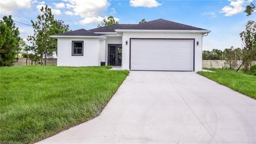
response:
<path fill-rule="evenodd" d="M 18 9 L 30 9 L 31 0 L 2 0 L 0 1 L 2 14 L 12 14 Z"/>

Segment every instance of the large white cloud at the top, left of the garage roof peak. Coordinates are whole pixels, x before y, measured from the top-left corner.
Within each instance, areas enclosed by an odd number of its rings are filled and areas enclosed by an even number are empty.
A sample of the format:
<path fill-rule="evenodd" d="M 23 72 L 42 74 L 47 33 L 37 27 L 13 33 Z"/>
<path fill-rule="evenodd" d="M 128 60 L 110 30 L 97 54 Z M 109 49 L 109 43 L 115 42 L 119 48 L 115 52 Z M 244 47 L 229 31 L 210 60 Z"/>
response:
<path fill-rule="evenodd" d="M 70 9 L 69 11 L 66 11 L 65 14 L 79 15 L 83 18 L 83 20 L 79 21 L 81 24 L 100 23 L 104 18 L 106 18 L 101 15 L 107 11 L 108 6 L 110 5 L 107 0 L 62 0 L 62 2 L 65 3 L 67 9 Z M 111 13 L 115 12 L 115 9 L 111 10 Z"/>

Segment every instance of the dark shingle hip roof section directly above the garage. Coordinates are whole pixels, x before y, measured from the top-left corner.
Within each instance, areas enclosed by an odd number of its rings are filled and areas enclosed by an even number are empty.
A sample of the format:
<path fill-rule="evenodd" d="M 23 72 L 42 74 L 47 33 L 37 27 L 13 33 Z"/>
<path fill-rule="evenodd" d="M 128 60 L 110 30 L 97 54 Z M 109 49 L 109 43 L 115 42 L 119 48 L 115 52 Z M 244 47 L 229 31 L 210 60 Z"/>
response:
<path fill-rule="evenodd" d="M 157 19 L 148 21 L 146 23 L 140 23 L 131 27 L 120 28 L 120 29 L 147 29 L 147 30 L 206 30 L 193 26 L 184 25 L 182 23 L 173 22 L 164 19 Z"/>

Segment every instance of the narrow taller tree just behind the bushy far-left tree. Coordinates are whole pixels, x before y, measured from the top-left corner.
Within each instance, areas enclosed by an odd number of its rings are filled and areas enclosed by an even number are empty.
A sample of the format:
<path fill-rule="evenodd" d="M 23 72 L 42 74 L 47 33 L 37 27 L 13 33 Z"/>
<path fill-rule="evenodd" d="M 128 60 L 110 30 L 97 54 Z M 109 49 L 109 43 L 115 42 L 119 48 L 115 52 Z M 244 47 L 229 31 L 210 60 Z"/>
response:
<path fill-rule="evenodd" d="M 12 37 L 15 38 L 14 47 L 15 47 L 16 52 L 17 52 L 17 57 L 16 58 L 18 60 L 19 59 L 19 52 L 20 52 L 19 42 L 20 42 L 20 39 L 21 39 L 20 36 L 19 36 L 20 35 L 19 28 L 17 28 L 15 26 L 15 23 L 12 19 L 12 15 L 9 15 L 8 17 L 4 16 L 3 21 L 6 24 L 6 26 L 10 28 Z"/>

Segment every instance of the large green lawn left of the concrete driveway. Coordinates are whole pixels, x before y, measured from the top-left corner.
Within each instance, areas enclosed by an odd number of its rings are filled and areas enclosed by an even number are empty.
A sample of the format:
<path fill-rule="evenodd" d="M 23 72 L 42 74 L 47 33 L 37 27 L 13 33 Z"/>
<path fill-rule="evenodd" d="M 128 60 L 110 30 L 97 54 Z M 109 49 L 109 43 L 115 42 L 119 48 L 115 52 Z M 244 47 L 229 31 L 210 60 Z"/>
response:
<path fill-rule="evenodd" d="M 23 66 L 0 70 L 0 143 L 33 143 L 101 113 L 129 71 Z"/>

